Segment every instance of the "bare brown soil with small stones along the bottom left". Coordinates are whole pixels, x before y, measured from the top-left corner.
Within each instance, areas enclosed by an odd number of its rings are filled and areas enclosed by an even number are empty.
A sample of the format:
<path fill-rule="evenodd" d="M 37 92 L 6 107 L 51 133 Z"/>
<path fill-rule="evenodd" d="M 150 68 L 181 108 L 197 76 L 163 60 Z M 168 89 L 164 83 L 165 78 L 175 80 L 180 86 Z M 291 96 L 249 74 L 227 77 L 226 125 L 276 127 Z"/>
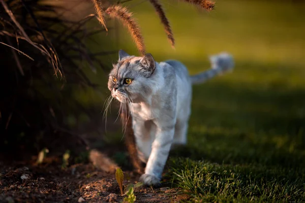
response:
<path fill-rule="evenodd" d="M 91 163 L 61 168 L 58 158 L 41 165 L 32 162 L 0 163 L 0 202 L 122 202 L 114 173 Z M 125 185 L 138 175 L 124 172 Z M 168 187 L 135 189 L 136 202 L 177 202 L 187 198 Z"/>

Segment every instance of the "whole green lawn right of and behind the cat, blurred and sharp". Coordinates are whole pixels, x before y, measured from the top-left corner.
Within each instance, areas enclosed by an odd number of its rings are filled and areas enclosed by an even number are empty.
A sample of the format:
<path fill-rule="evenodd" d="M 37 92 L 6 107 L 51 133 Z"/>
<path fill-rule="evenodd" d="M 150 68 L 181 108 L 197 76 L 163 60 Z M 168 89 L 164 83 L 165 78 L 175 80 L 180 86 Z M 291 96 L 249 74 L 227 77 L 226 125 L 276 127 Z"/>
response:
<path fill-rule="evenodd" d="M 172 153 L 167 177 L 192 202 L 305 201 L 305 4 L 219 0 L 199 13 L 162 1 L 173 50 L 153 8 L 133 2 L 158 61 L 178 59 L 191 74 L 221 51 L 236 63 L 233 73 L 194 86 L 188 145 Z M 126 29 L 118 34 L 112 45 L 138 54 Z"/>

